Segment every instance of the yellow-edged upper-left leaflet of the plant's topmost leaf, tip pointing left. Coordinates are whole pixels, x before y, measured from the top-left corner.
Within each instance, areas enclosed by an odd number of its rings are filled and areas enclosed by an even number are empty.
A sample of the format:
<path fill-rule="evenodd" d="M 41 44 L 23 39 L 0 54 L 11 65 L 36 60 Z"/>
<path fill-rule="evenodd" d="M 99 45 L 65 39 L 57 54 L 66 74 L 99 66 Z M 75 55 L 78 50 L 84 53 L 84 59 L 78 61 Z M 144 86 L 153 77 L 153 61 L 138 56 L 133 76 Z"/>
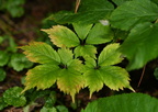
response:
<path fill-rule="evenodd" d="M 66 26 L 56 25 L 42 31 L 46 32 L 50 41 L 58 47 L 75 47 L 80 44 L 77 35 Z"/>

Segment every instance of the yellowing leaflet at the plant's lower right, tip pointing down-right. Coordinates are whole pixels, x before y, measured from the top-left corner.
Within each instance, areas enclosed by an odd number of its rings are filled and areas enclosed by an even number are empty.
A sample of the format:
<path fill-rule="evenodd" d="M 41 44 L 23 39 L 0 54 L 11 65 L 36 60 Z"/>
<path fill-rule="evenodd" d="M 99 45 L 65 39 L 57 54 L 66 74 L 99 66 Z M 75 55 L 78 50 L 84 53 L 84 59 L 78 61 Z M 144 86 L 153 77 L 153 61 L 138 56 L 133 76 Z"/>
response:
<path fill-rule="evenodd" d="M 124 88 L 128 88 L 129 86 L 129 76 L 128 72 L 116 66 L 105 66 L 99 69 L 100 77 L 102 77 L 102 81 L 112 90 L 123 90 Z"/>

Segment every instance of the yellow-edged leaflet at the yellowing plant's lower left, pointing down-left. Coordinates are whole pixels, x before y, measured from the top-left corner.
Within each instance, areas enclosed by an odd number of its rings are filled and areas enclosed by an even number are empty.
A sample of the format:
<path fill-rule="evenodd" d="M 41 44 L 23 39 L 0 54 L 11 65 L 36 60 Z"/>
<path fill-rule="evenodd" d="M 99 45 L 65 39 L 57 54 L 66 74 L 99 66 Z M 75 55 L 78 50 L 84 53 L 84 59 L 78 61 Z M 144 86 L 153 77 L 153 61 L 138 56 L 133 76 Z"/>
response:
<path fill-rule="evenodd" d="M 52 87 L 58 77 L 59 67 L 54 64 L 38 65 L 27 71 L 24 91 L 36 87 L 37 90 Z"/>

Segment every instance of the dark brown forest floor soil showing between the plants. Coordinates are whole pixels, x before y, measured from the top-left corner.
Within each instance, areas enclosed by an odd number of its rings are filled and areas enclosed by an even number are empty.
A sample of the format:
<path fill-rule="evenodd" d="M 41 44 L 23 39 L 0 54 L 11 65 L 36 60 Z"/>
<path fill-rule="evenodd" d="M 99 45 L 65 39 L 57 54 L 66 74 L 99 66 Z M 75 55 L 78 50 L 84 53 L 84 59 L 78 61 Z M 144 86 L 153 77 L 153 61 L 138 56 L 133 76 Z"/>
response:
<path fill-rule="evenodd" d="M 0 20 L 4 21 L 8 32 L 12 35 L 15 43 L 19 46 L 26 45 L 29 42 L 35 41 L 41 36 L 40 30 L 42 27 L 42 21 L 49 14 L 55 13 L 60 10 L 72 10 L 75 0 L 26 0 L 24 4 L 25 14 L 22 18 L 12 19 L 8 13 L 0 12 Z M 3 26 L 0 26 L 0 30 Z M 143 80 L 137 86 L 143 72 L 143 69 L 131 71 L 131 85 L 136 90 L 136 92 L 148 93 L 153 97 L 158 98 L 158 80 L 154 77 L 153 65 L 157 64 L 156 61 L 150 61 L 146 65 L 145 74 Z M 22 71 L 15 71 L 12 68 L 4 67 L 7 70 L 7 78 L 4 81 L 0 82 L 0 97 L 2 93 L 11 87 L 22 87 L 21 78 L 25 76 L 27 69 Z M 115 93 L 121 92 L 132 92 L 129 90 L 124 91 L 112 91 L 108 87 L 104 87 L 101 91 L 95 92 L 91 99 L 89 99 L 89 91 L 87 89 L 81 90 L 76 99 L 80 101 L 77 109 L 71 107 L 70 96 L 66 96 L 59 90 L 57 98 L 63 100 L 63 104 L 66 105 L 71 112 L 79 112 L 81 108 L 84 108 L 88 102 L 95 100 L 102 97 L 109 97 Z M 9 107 L 2 112 L 22 112 L 20 108 Z"/>

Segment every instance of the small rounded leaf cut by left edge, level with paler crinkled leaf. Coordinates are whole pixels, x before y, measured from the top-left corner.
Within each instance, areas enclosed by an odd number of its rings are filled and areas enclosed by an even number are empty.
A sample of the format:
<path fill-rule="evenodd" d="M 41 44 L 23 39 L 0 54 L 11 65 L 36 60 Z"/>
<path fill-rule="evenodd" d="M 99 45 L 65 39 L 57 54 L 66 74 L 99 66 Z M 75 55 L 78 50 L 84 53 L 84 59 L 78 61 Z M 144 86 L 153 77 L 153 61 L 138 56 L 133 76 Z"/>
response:
<path fill-rule="evenodd" d="M 10 54 L 4 51 L 0 51 L 0 66 L 4 66 L 8 64 L 10 59 Z"/>

